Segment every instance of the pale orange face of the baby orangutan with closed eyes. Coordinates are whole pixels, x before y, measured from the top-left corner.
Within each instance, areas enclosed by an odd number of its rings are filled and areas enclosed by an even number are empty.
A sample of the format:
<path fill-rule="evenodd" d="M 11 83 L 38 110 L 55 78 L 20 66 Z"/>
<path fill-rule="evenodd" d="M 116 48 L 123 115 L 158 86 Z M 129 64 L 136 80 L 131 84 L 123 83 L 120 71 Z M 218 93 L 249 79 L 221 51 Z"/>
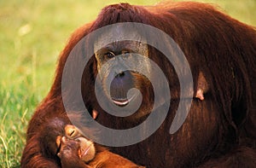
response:
<path fill-rule="evenodd" d="M 67 158 L 72 158 L 74 154 L 79 156 L 84 162 L 89 162 L 95 158 L 96 148 L 94 143 L 86 139 L 81 131 L 74 125 L 65 126 L 65 136 L 57 136 L 56 144 L 60 153 L 66 155 Z"/>

